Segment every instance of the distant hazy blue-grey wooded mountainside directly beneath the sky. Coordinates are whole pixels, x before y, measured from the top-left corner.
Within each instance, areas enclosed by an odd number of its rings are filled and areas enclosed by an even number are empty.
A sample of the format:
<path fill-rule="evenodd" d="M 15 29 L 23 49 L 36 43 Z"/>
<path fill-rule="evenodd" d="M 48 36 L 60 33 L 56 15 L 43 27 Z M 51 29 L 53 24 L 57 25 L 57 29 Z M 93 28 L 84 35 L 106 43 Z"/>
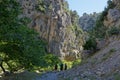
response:
<path fill-rule="evenodd" d="M 80 27 L 84 31 L 89 31 L 95 26 L 95 22 L 98 16 L 99 16 L 98 13 L 93 13 L 93 14 L 84 13 L 83 16 L 81 16 L 79 19 Z"/>

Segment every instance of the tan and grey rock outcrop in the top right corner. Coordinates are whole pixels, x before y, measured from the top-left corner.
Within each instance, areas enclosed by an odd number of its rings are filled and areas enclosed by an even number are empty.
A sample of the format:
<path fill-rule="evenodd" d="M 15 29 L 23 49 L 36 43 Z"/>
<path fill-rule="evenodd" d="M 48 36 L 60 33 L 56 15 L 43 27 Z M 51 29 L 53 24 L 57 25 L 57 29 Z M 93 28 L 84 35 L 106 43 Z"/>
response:
<path fill-rule="evenodd" d="M 107 27 L 120 26 L 120 1 L 113 0 L 113 3 L 115 4 L 115 7 L 108 10 L 107 19 L 104 20 L 104 25 Z"/>

